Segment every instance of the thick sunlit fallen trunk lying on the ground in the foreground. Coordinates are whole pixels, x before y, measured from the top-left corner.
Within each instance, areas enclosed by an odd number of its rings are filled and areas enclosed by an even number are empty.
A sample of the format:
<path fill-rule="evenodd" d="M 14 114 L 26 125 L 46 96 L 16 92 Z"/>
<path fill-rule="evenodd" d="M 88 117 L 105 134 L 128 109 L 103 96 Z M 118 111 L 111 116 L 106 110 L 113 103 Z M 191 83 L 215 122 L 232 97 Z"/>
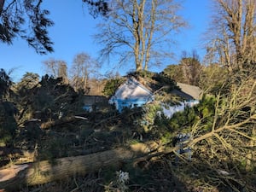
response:
<path fill-rule="evenodd" d="M 96 154 L 65 157 L 49 162 L 39 161 L 0 170 L 0 190 L 15 190 L 22 185 L 49 183 L 58 179 L 88 172 L 96 172 L 106 166 L 120 166 L 124 160 L 156 151 L 156 143 L 137 143 L 131 148 L 114 148 Z"/>

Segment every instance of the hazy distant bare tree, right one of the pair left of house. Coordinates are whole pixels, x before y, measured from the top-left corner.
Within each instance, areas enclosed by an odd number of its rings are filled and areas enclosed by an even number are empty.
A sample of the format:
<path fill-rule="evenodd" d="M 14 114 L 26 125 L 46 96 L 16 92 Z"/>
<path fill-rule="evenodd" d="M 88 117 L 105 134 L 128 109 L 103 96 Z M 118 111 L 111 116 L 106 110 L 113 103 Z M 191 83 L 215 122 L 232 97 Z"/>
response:
<path fill-rule="evenodd" d="M 86 53 L 75 55 L 71 70 L 71 79 L 75 90 L 88 92 L 90 75 L 96 73 L 98 68 L 98 63 L 90 55 Z"/>

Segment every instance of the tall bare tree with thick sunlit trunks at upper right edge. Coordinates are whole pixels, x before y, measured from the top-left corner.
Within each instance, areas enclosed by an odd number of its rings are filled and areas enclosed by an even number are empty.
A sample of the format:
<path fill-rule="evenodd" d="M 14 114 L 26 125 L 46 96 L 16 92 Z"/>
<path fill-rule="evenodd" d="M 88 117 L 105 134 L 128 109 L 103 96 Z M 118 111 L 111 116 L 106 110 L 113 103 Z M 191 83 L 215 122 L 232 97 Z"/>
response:
<path fill-rule="evenodd" d="M 217 53 L 230 72 L 252 67 L 256 62 L 256 4 L 253 0 L 214 0 L 211 42 L 208 54 Z"/>

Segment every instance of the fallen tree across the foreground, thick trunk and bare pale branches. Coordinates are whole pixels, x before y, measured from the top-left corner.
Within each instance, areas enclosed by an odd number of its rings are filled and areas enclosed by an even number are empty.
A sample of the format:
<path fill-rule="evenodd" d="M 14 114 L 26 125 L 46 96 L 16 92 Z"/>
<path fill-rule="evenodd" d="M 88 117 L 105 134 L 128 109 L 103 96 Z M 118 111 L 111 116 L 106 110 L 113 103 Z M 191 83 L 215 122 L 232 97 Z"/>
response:
<path fill-rule="evenodd" d="M 255 83 L 253 84 L 253 89 L 255 87 Z M 239 95 L 239 94 L 236 94 Z M 242 95 L 243 96 L 243 95 Z M 254 95 L 253 95 L 254 96 Z M 231 97 L 233 98 L 233 97 Z M 219 97 L 216 102 L 216 114 L 218 114 L 219 107 L 225 107 L 219 105 Z M 254 104 L 254 97 L 247 99 L 246 101 L 241 101 L 240 103 L 236 103 L 236 106 L 228 105 L 229 108 L 225 111 L 225 113 L 230 114 L 233 112 L 235 108 L 237 110 L 237 104 L 239 104 L 239 108 L 244 109 L 247 106 L 247 103 Z M 232 102 L 232 100 L 231 100 Z M 244 103 L 245 102 L 245 103 Z M 230 103 L 230 102 L 228 102 Z M 232 107 L 232 108 L 231 108 Z M 234 109 L 234 110 L 235 110 Z M 251 110 L 254 110 L 253 108 Z M 221 110 L 224 111 L 224 110 Z M 238 121 L 235 119 L 236 116 L 228 115 L 228 120 L 218 120 L 218 115 L 214 115 L 212 129 L 210 131 L 204 132 L 204 134 L 195 134 L 194 139 L 192 139 L 187 146 L 193 147 L 197 143 L 201 143 L 201 141 L 213 141 L 214 142 L 221 141 L 218 143 L 218 146 L 224 145 L 225 148 L 230 148 L 230 152 L 233 151 L 230 147 L 230 142 L 234 140 L 230 140 L 229 137 L 225 137 L 226 134 L 232 132 L 236 134 L 236 138 L 240 138 L 244 143 L 251 141 L 255 142 L 254 137 L 254 129 L 250 125 L 253 125 L 256 119 L 256 114 L 248 112 L 248 116 L 243 112 L 243 119 Z M 240 113 L 236 113 L 236 115 L 240 115 Z M 226 116 L 224 116 L 226 117 Z M 223 116 L 222 116 L 223 118 Z M 217 124 L 218 123 L 218 124 Z M 192 127 L 192 132 L 199 133 L 201 132 L 201 121 L 198 122 L 197 125 Z M 241 128 L 247 128 L 247 132 L 241 131 Z M 249 131 L 252 129 L 252 132 Z M 239 141 L 240 141 L 239 140 Z M 212 148 L 215 145 L 212 145 Z M 252 144 L 252 147 L 254 144 Z M 248 147 L 248 146 L 247 146 Z M 197 150 L 200 148 L 196 147 Z M 247 148 L 249 150 L 250 148 Z M 15 190 L 20 188 L 22 185 L 36 185 L 42 183 L 49 183 L 58 179 L 65 179 L 67 177 L 72 177 L 73 175 L 84 175 L 89 172 L 97 172 L 102 167 L 107 166 L 116 166 L 118 169 L 122 164 L 129 160 L 134 165 L 138 164 L 142 161 L 148 161 L 154 157 L 160 157 L 165 154 L 176 153 L 177 147 L 166 147 L 161 146 L 158 143 L 137 143 L 131 145 L 129 148 L 113 148 L 108 151 L 98 152 L 95 154 L 87 154 L 80 155 L 75 157 L 65 157 L 54 160 L 54 162 L 49 162 L 48 160 L 34 162 L 30 164 L 23 164 L 20 166 L 11 166 L 6 169 L 0 170 L 0 189 L 8 189 Z M 246 151 L 245 154 L 251 154 L 250 151 Z M 254 154 L 254 153 L 253 153 Z M 252 157 L 253 157 L 252 154 Z M 252 164 L 253 158 L 251 156 L 247 157 L 248 165 Z M 219 157 L 221 159 L 221 157 Z M 233 156 L 234 159 L 239 158 L 239 156 Z M 215 167 L 216 166 L 216 167 Z M 212 170 L 216 170 L 218 172 L 218 165 L 212 165 Z M 229 170 L 224 170 L 229 171 Z M 235 178 L 234 178 L 235 179 Z M 234 180 L 233 179 L 233 180 Z M 240 182 L 239 182 L 240 183 Z"/>

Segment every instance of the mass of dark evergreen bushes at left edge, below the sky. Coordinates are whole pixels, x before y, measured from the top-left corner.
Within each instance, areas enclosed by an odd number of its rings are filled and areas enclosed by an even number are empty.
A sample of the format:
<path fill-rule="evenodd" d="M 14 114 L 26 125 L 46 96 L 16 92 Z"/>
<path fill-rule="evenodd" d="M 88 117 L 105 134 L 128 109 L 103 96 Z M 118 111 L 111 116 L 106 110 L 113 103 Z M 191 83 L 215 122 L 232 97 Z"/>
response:
<path fill-rule="evenodd" d="M 15 144 L 20 134 L 18 127 L 29 119 L 42 122 L 60 119 L 82 110 L 79 93 L 61 78 L 26 73 L 18 84 L 12 82 L 9 74 L 0 71 L 0 143 Z"/>

